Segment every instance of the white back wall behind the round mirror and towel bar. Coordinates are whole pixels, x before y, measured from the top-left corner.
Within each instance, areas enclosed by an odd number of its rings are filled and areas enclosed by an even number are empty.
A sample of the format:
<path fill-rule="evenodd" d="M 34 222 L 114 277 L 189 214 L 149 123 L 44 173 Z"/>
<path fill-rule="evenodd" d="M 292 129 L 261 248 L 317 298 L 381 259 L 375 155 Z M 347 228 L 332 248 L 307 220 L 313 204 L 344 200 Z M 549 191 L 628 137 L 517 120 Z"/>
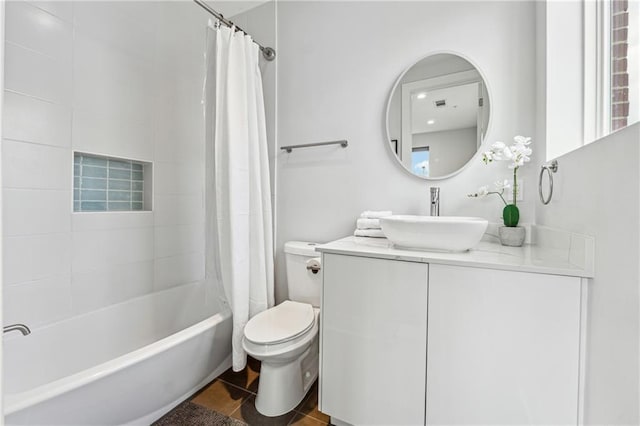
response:
<path fill-rule="evenodd" d="M 492 124 L 487 143 L 533 136 L 533 2 L 280 2 L 278 145 L 347 139 L 349 147 L 278 153 L 277 298 L 286 297 L 282 246 L 353 232 L 363 210 L 428 214 L 429 186 L 442 188 L 441 214 L 498 222 L 497 198 L 469 199 L 509 177 L 479 156 L 458 176 L 408 175 L 386 146 L 385 108 L 400 73 L 430 52 L 468 57 L 487 78 Z M 536 145 L 533 145 L 536 149 Z M 535 159 L 534 159 L 535 161 Z M 533 221 L 535 167 L 523 169 L 523 222 Z"/>

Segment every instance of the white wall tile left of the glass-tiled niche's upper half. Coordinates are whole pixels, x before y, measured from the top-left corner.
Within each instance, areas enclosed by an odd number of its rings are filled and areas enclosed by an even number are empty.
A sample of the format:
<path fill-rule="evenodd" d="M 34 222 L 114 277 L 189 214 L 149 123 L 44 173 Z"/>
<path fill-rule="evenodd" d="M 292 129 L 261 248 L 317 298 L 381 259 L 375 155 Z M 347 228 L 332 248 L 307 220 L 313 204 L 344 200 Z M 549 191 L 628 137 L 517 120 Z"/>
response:
<path fill-rule="evenodd" d="M 5 188 L 71 190 L 72 167 L 69 149 L 7 139 L 2 141 Z"/>

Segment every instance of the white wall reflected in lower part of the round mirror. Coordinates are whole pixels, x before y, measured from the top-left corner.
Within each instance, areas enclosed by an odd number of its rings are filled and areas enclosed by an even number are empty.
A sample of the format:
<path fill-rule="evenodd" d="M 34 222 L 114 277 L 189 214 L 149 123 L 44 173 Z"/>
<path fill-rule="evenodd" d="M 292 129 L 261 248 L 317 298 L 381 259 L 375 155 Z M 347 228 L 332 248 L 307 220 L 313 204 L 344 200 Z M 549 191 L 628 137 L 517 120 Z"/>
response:
<path fill-rule="evenodd" d="M 429 147 L 429 173 L 445 176 L 464 166 L 478 149 L 477 127 L 416 133 L 413 146 Z"/>

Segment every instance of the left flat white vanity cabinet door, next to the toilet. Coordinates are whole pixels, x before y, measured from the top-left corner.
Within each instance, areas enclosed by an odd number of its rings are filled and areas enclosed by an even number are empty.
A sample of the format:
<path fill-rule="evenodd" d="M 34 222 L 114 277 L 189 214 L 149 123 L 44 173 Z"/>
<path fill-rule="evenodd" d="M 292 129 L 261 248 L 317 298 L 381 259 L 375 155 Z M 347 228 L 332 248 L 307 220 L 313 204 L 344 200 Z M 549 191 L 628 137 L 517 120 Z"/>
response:
<path fill-rule="evenodd" d="M 323 256 L 320 410 L 354 425 L 423 425 L 428 265 Z"/>

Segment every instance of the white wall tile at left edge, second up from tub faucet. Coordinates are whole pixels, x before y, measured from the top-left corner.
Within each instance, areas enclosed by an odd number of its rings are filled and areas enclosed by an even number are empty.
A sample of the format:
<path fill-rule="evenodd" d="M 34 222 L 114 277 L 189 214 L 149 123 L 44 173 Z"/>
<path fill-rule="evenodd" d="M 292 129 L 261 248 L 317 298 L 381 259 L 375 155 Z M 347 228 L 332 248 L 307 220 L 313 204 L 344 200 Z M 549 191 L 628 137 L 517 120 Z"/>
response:
<path fill-rule="evenodd" d="M 15 284 L 71 273 L 68 233 L 4 238 L 4 282 Z"/>

